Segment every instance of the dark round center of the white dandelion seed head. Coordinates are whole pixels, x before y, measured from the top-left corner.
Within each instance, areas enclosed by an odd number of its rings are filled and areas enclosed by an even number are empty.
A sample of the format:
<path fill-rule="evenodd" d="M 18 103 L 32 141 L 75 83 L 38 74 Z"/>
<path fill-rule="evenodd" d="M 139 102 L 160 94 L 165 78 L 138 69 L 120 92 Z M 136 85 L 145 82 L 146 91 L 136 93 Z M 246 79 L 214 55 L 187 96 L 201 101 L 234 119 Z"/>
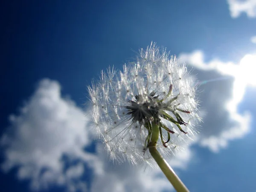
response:
<path fill-rule="evenodd" d="M 135 96 L 135 101 L 129 100 L 130 105 L 125 108 L 128 109 L 128 115 L 131 115 L 133 121 L 141 123 L 148 122 L 149 120 L 159 118 L 159 109 L 161 102 L 158 102 L 158 96 L 150 94 L 146 97 L 142 95 Z"/>

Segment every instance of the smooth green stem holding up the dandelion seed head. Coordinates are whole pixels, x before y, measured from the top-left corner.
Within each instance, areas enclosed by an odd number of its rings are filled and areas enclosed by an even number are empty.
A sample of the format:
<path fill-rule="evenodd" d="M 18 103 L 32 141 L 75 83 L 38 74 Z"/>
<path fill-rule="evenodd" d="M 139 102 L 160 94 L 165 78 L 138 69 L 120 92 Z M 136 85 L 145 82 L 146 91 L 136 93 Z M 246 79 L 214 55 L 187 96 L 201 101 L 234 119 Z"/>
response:
<path fill-rule="evenodd" d="M 151 140 L 148 143 L 148 149 L 154 160 L 157 162 L 158 166 L 167 177 L 167 179 L 172 183 L 172 186 L 176 189 L 177 192 L 189 192 L 184 183 L 180 178 L 175 174 L 171 166 L 164 160 L 163 156 L 157 151 L 157 140 L 159 139 L 159 127 L 156 123 L 152 122 L 152 132 Z"/>

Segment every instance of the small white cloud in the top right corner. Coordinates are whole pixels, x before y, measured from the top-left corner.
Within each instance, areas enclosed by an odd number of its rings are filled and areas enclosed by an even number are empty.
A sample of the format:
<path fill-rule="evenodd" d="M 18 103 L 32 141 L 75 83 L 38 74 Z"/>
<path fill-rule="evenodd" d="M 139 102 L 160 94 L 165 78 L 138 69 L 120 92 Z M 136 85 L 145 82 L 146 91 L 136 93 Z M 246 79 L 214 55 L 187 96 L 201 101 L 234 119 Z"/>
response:
<path fill-rule="evenodd" d="M 227 0 L 230 9 L 230 15 L 237 18 L 242 12 L 247 17 L 256 17 L 256 0 Z"/>

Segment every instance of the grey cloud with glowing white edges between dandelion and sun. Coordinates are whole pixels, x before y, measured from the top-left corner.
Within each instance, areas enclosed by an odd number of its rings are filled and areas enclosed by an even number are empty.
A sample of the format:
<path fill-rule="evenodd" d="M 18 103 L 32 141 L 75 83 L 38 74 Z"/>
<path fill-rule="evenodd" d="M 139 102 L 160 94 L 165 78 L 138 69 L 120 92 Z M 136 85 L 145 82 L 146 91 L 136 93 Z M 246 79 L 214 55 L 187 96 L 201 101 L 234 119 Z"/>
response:
<path fill-rule="evenodd" d="M 199 134 L 200 145 L 218 152 L 230 140 L 244 137 L 250 131 L 250 113 L 239 114 L 237 108 L 245 88 L 256 84 L 251 74 L 256 56 L 245 55 L 239 64 L 218 59 L 205 62 L 203 52 L 197 50 L 181 54 L 180 61 L 195 67 L 204 90 L 200 97 L 206 115 Z"/>

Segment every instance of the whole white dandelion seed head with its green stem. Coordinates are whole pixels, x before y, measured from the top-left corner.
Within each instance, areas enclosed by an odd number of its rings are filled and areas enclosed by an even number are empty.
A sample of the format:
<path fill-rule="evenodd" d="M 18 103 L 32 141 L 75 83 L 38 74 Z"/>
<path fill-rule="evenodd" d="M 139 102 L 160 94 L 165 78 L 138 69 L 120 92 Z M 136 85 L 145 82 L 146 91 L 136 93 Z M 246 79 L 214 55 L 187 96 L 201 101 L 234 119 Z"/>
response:
<path fill-rule="evenodd" d="M 157 162 L 177 191 L 186 187 L 163 157 L 192 139 L 198 101 L 196 83 L 185 64 L 154 43 L 141 49 L 122 71 L 109 67 L 88 87 L 93 128 L 112 159 L 133 164 Z"/>

